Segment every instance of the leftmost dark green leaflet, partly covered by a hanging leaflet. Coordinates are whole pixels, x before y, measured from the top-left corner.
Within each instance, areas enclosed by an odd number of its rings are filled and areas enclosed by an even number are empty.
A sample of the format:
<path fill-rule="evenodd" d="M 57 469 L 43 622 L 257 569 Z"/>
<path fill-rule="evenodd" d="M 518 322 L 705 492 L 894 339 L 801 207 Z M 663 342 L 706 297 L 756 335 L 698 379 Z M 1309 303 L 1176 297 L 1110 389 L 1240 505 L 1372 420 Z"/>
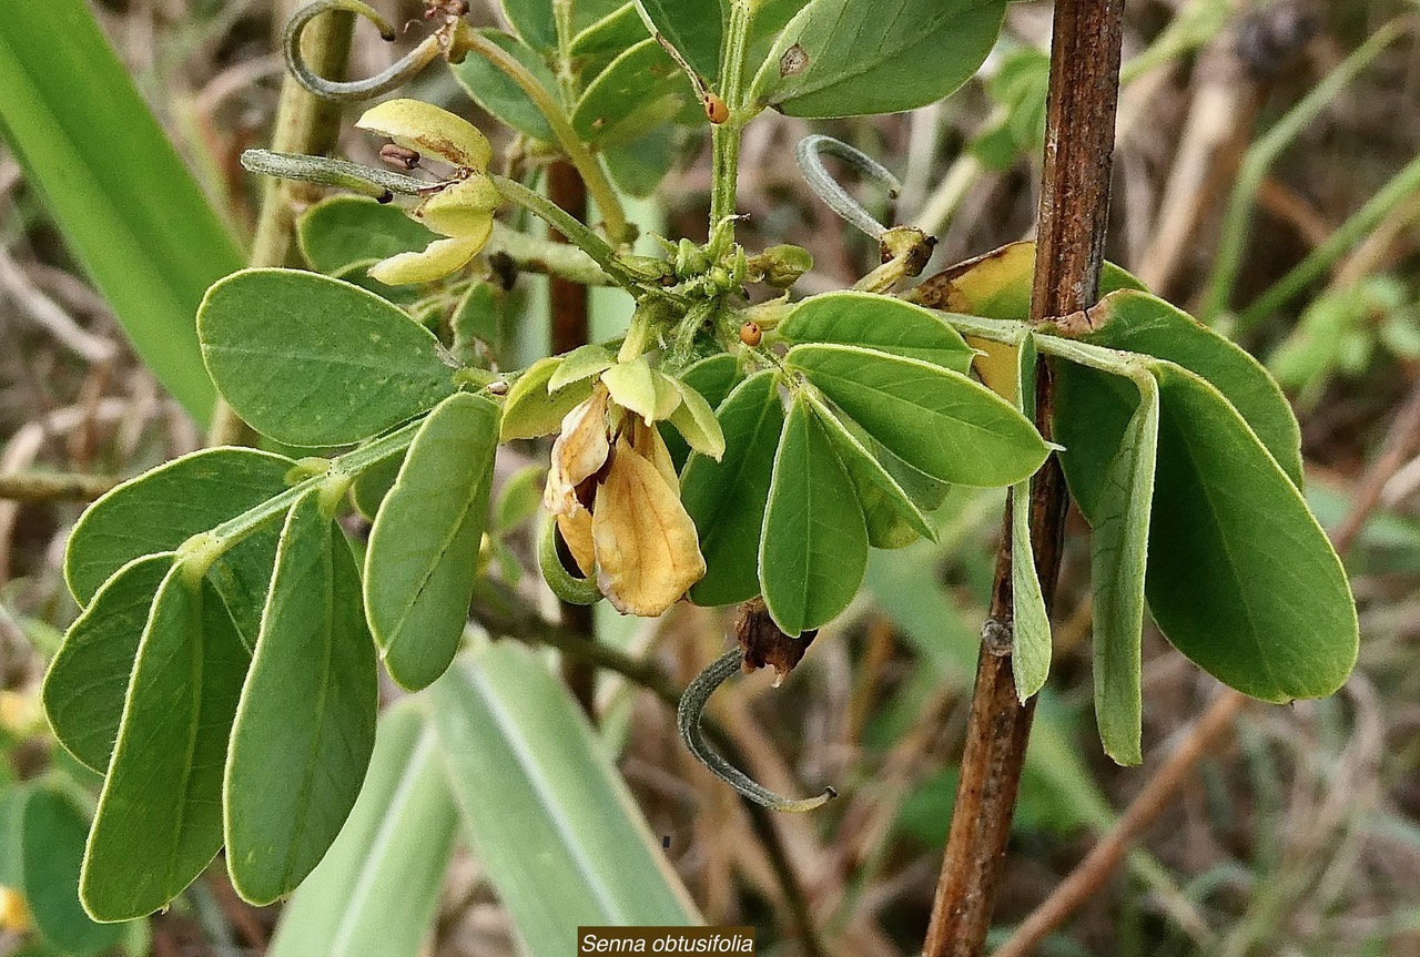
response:
<path fill-rule="evenodd" d="M 102 774 L 124 720 L 128 679 L 173 554 L 135 558 L 114 574 L 64 633 L 41 691 L 54 737 Z"/>

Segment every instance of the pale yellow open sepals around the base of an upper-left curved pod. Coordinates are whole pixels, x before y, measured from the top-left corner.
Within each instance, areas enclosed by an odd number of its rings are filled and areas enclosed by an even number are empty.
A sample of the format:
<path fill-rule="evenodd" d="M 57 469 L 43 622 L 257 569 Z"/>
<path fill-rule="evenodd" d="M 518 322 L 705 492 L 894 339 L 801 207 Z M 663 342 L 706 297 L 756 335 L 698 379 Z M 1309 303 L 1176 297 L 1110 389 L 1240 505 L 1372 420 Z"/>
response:
<path fill-rule="evenodd" d="M 382 102 L 365 111 L 355 125 L 454 168 L 454 182 L 412 213 L 447 239 L 435 240 L 417 253 L 390 256 L 371 267 L 371 277 L 386 285 L 409 285 L 463 268 L 487 244 L 493 212 L 503 199 L 484 176 L 493 158 L 487 138 L 467 119 L 420 99 Z"/>

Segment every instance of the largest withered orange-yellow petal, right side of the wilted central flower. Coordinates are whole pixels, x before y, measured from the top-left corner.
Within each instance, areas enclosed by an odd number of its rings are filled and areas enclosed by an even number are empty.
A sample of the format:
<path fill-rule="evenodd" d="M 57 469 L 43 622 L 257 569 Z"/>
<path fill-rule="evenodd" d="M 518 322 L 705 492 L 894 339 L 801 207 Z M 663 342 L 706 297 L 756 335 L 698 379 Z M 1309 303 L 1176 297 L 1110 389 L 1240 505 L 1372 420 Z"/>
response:
<path fill-rule="evenodd" d="M 622 615 L 660 615 L 706 574 L 680 496 L 625 437 L 596 490 L 592 541 L 596 586 Z"/>

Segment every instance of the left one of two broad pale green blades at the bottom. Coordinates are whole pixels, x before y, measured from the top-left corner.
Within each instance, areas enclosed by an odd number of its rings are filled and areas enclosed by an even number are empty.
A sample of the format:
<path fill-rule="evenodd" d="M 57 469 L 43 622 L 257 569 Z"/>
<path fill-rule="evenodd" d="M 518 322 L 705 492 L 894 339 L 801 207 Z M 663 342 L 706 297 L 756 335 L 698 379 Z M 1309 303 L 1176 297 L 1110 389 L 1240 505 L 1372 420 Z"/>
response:
<path fill-rule="evenodd" d="M 379 718 L 341 835 L 281 909 L 267 957 L 417 957 L 439 910 L 459 826 L 417 699 Z"/>

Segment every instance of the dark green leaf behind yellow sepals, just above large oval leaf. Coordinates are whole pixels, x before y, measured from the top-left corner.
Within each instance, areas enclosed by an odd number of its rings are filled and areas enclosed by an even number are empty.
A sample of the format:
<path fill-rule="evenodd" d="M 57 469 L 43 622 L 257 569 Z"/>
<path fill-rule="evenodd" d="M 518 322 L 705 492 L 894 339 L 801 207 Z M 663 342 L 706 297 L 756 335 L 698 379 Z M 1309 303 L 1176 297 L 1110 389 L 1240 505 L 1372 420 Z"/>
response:
<path fill-rule="evenodd" d="M 305 261 L 327 275 L 338 275 L 356 263 L 422 250 L 439 239 L 393 203 L 368 196 L 322 199 L 301 213 L 295 234 Z"/>

